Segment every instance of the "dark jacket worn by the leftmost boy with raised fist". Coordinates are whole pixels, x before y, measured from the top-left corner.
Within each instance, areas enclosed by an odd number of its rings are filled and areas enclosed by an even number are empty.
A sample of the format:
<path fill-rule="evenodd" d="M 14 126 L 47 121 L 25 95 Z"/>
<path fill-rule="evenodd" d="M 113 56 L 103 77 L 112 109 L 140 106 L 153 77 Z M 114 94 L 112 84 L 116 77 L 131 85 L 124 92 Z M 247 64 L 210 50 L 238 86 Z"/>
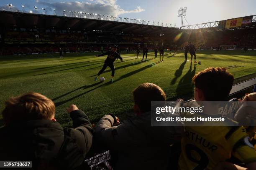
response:
<path fill-rule="evenodd" d="M 30 120 L 0 129 L 1 161 L 32 161 L 33 169 L 78 168 L 92 145 L 92 125 L 81 110 L 70 113 L 73 128 Z M 19 168 L 20 169 L 20 168 Z"/>

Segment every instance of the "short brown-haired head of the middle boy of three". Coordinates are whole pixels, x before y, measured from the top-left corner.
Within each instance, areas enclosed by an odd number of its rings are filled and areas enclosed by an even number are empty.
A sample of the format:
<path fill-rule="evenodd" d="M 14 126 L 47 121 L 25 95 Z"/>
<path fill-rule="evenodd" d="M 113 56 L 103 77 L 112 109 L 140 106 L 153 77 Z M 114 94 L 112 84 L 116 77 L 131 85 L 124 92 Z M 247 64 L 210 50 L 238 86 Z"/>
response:
<path fill-rule="evenodd" d="M 143 83 L 133 90 L 134 111 L 137 115 L 151 111 L 151 101 L 165 101 L 164 91 L 153 83 Z"/>

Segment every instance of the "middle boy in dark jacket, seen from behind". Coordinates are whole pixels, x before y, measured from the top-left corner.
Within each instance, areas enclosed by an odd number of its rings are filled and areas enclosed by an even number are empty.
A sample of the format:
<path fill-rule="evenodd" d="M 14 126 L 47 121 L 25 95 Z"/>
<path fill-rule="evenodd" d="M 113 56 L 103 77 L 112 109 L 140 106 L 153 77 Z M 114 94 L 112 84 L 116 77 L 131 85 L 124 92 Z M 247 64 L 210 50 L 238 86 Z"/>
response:
<path fill-rule="evenodd" d="M 118 117 L 103 116 L 95 127 L 95 141 L 102 148 L 117 153 L 115 169 L 167 169 L 170 145 L 180 141 L 184 128 L 151 126 L 151 101 L 166 100 L 159 86 L 144 83 L 133 91 L 133 98 L 136 116 L 120 125 L 117 125 Z"/>

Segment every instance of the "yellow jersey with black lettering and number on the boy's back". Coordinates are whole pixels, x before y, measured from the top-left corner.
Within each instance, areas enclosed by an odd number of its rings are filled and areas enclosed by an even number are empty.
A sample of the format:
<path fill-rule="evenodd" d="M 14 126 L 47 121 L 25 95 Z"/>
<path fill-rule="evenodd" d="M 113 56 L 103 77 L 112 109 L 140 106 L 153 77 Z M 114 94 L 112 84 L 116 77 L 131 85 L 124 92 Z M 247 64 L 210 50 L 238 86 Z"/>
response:
<path fill-rule="evenodd" d="M 186 126 L 179 167 L 181 170 L 211 170 L 231 155 L 246 164 L 256 162 L 249 140 L 243 126 Z"/>

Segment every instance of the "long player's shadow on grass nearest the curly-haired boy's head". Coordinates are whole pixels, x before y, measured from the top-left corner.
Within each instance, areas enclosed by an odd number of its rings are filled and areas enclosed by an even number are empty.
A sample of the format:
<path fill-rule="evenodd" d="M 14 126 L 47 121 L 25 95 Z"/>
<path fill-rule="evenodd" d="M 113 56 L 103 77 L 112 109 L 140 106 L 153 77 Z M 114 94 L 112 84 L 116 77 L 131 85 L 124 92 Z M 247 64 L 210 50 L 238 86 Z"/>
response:
<path fill-rule="evenodd" d="M 189 70 L 187 73 L 179 80 L 177 85 L 176 94 L 177 96 L 187 94 L 188 92 L 193 91 L 194 85 L 192 83 L 192 78 L 195 75 L 196 64 L 192 70 L 192 63 L 190 63 Z"/>

